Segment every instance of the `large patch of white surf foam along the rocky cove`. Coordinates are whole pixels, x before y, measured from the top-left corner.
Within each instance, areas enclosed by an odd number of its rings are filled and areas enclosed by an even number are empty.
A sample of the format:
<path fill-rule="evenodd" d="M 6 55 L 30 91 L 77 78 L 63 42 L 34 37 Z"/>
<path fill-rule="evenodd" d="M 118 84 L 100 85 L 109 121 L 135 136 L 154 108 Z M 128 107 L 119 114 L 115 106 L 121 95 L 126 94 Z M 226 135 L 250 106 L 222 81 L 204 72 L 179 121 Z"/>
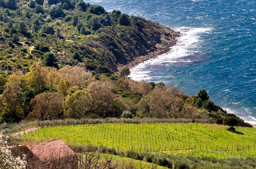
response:
<path fill-rule="evenodd" d="M 177 38 L 177 43 L 170 47 L 170 51 L 159 55 L 158 57 L 150 60 L 146 60 L 143 63 L 138 64 L 131 69 L 131 74 L 129 77 L 133 80 L 149 80 L 152 77 L 150 75 L 150 70 L 144 70 L 145 67 L 153 67 L 161 64 L 173 64 L 177 62 L 191 62 L 191 60 L 181 59 L 183 57 L 193 55 L 193 53 L 198 53 L 197 45 L 200 44 L 200 33 L 209 32 L 211 28 L 190 28 L 181 27 L 175 29 L 175 31 L 181 32 L 181 36 Z"/>

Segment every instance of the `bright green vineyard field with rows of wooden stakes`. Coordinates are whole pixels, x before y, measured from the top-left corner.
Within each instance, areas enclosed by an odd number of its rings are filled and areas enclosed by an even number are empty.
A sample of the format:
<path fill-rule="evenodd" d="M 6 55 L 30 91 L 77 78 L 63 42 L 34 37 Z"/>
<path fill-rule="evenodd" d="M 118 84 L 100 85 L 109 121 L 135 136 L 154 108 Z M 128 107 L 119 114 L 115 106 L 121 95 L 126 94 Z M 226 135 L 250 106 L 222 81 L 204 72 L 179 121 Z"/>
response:
<path fill-rule="evenodd" d="M 22 137 L 172 155 L 256 157 L 256 128 L 236 127 L 236 131 L 217 124 L 98 124 L 46 127 Z"/>

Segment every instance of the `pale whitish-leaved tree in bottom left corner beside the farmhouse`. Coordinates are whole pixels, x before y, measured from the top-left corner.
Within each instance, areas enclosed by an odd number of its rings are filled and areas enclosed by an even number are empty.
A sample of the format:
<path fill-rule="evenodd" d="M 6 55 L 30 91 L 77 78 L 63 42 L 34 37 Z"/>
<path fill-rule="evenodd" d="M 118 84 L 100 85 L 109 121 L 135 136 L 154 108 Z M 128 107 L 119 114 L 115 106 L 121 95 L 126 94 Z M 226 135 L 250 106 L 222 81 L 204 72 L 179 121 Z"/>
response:
<path fill-rule="evenodd" d="M 11 150 L 7 149 L 8 136 L 0 133 L 0 166 L 1 169 L 23 169 L 26 168 L 27 162 L 25 161 L 25 155 L 23 158 L 13 157 L 11 155 Z"/>

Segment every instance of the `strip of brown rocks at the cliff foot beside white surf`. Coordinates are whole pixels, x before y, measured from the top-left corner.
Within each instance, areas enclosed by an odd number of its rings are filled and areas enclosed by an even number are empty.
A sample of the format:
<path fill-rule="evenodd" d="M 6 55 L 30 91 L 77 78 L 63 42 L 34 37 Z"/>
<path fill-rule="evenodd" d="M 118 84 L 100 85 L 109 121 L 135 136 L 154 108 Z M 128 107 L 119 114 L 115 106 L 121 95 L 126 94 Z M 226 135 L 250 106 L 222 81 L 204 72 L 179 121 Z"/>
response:
<path fill-rule="evenodd" d="M 172 34 L 171 36 L 169 36 L 168 38 L 165 38 L 162 41 L 162 44 L 159 44 L 157 50 L 150 52 L 146 55 L 142 55 L 139 56 L 137 58 L 134 58 L 133 60 L 131 60 L 130 62 L 128 62 L 127 64 L 118 64 L 117 65 L 117 70 L 121 71 L 123 68 L 128 67 L 128 68 L 133 68 L 135 66 L 137 66 L 140 63 L 145 62 L 146 60 L 152 59 L 152 58 L 156 58 L 157 56 L 167 53 L 170 51 L 170 47 L 174 46 L 176 44 L 176 38 L 180 36 L 180 32 L 175 32 L 175 34 Z"/>

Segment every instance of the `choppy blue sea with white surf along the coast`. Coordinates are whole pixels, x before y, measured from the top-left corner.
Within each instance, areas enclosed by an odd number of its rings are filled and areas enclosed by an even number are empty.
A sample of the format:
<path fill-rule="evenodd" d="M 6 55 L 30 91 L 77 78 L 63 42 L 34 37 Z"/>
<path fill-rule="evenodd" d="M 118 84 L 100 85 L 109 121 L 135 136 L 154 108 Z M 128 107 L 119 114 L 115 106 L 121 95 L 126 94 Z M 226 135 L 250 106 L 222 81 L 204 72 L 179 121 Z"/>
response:
<path fill-rule="evenodd" d="M 255 0 L 86 2 L 182 33 L 169 53 L 139 64 L 131 70 L 131 78 L 165 84 L 173 80 L 189 96 L 204 88 L 217 105 L 256 124 Z"/>

